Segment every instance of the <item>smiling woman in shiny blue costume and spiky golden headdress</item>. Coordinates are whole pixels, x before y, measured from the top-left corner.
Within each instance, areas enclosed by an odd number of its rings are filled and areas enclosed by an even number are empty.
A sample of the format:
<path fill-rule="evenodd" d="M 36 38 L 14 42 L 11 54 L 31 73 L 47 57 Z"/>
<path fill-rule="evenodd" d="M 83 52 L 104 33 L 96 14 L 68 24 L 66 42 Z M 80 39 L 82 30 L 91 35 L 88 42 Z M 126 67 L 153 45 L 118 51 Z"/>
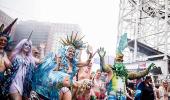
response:
<path fill-rule="evenodd" d="M 77 73 L 77 67 L 87 66 L 90 63 L 91 59 L 88 59 L 86 62 L 77 61 L 75 52 L 77 49 L 83 47 L 83 42 L 81 41 L 82 38 L 76 37 L 77 34 L 75 36 L 72 34 L 69 40 L 67 36 L 67 42 L 62 40 L 64 47 L 59 50 L 60 56 L 50 53 L 43 63 L 38 66 L 34 74 L 33 90 L 44 98 L 53 98 L 51 95 L 52 92 L 50 92 L 51 90 L 48 86 L 50 79 L 49 74 L 57 72 L 67 73 L 70 75 L 70 83 L 73 84 L 73 77 Z M 89 58 L 91 57 L 92 56 Z M 63 87 L 60 93 L 60 96 L 67 97 L 71 100 L 71 91 L 68 88 Z"/>

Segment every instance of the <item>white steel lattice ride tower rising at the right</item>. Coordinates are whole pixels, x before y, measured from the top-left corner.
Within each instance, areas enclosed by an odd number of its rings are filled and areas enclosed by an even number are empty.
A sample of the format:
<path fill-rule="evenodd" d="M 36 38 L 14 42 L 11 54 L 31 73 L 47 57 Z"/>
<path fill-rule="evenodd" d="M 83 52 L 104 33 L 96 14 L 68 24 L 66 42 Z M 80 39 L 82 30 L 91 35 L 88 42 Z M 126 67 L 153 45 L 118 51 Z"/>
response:
<path fill-rule="evenodd" d="M 161 59 L 164 74 L 169 73 L 170 0 L 120 0 L 118 38 L 124 33 L 128 62 Z"/>

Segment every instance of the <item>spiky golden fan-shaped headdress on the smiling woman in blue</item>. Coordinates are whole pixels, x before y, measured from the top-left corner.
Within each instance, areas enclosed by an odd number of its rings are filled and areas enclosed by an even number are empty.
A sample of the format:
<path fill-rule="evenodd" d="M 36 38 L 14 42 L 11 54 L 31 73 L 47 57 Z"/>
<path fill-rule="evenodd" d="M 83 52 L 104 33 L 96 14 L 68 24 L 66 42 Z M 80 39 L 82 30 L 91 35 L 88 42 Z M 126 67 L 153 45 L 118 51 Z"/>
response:
<path fill-rule="evenodd" d="M 74 46 L 75 49 L 81 49 L 81 48 L 84 48 L 85 47 L 85 44 L 82 39 L 84 38 L 84 36 L 80 37 L 78 36 L 79 34 L 76 33 L 76 34 L 71 34 L 71 36 L 68 36 L 67 35 L 67 38 L 65 39 L 61 39 L 61 43 L 64 45 L 64 46 Z"/>

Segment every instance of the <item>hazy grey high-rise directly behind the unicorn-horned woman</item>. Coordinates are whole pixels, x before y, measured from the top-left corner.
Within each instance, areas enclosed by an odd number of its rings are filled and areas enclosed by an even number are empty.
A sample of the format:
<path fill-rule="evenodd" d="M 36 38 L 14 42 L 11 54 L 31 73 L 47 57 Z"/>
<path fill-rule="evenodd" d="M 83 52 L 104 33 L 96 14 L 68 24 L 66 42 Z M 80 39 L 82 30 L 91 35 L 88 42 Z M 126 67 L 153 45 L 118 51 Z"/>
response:
<path fill-rule="evenodd" d="M 37 21 L 22 21 L 17 24 L 14 40 L 18 43 L 24 38 L 28 38 L 33 31 L 31 40 L 34 46 L 39 46 L 43 41 L 47 41 L 50 24 Z"/>

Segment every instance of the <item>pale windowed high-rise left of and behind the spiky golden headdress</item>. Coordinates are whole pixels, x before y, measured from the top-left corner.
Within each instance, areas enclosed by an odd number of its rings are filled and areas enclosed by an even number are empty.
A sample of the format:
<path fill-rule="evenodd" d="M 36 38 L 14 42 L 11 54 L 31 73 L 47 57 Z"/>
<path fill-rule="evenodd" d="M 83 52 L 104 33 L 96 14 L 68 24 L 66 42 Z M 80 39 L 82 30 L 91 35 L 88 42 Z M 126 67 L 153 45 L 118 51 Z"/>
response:
<path fill-rule="evenodd" d="M 49 32 L 46 51 L 56 51 L 61 47 L 60 39 L 71 35 L 71 33 L 81 33 L 79 25 L 76 24 L 52 24 Z"/>

